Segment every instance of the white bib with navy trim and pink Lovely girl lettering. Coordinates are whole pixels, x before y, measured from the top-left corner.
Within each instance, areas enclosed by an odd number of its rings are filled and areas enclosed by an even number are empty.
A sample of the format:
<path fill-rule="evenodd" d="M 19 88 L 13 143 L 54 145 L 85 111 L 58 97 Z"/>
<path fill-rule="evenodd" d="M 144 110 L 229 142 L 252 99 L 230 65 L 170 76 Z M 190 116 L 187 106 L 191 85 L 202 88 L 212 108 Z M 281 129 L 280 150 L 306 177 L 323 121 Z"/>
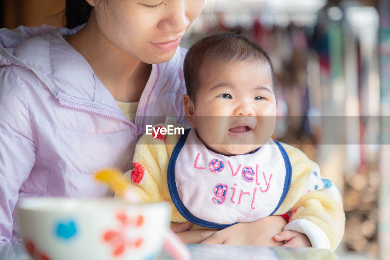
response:
<path fill-rule="evenodd" d="M 291 163 L 277 141 L 269 139 L 250 154 L 225 156 L 209 150 L 194 128 L 180 137 L 168 165 L 168 187 L 177 210 L 208 228 L 272 215 L 290 182 Z"/>

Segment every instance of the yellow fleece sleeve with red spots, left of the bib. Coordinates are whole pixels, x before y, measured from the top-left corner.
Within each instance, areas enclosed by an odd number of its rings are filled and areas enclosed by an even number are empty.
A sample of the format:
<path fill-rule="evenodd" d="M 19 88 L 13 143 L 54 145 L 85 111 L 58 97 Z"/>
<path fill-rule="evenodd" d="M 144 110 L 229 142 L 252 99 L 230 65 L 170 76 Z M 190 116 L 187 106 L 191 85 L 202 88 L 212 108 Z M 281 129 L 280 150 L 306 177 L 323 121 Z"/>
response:
<path fill-rule="evenodd" d="M 129 187 L 136 192 L 143 202 L 168 201 L 172 206 L 172 221 L 184 222 L 174 207 L 169 194 L 167 171 L 170 156 L 180 135 L 155 135 L 161 127 L 166 125 L 154 125 L 151 135 L 142 135 L 137 142 L 133 157 L 133 170 L 125 173 L 131 182 Z M 184 127 L 175 125 L 175 127 Z"/>

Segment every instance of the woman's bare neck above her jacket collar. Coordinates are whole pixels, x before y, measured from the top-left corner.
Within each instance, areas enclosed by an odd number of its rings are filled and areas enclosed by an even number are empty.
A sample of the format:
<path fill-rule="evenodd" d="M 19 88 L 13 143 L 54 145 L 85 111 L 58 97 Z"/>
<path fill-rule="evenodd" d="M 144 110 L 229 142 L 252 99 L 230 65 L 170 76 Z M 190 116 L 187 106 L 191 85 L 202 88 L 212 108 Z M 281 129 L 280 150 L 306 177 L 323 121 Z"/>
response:
<path fill-rule="evenodd" d="M 87 24 L 66 40 L 83 55 L 115 100 L 139 101 L 152 66 L 124 53 L 108 41 L 99 30 L 94 11 Z"/>

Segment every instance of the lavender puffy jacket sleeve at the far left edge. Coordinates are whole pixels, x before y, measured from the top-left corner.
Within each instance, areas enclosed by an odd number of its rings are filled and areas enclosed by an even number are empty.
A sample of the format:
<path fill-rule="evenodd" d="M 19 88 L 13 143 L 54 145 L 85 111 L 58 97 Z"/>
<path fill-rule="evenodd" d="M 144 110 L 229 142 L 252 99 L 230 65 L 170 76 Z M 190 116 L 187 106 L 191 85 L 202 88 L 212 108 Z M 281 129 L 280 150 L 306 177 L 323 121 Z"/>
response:
<path fill-rule="evenodd" d="M 0 69 L 0 242 L 12 242 L 19 189 L 35 162 L 35 143 L 23 85 Z"/>

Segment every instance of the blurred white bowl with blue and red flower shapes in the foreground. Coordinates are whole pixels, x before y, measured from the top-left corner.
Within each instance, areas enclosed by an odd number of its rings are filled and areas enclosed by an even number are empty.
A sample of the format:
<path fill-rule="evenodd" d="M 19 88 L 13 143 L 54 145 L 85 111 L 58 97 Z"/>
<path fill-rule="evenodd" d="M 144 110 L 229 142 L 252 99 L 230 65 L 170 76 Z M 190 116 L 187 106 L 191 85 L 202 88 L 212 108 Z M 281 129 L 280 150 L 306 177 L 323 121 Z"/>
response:
<path fill-rule="evenodd" d="M 35 260 L 152 259 L 170 223 L 166 202 L 25 198 L 17 207 L 21 237 Z"/>

